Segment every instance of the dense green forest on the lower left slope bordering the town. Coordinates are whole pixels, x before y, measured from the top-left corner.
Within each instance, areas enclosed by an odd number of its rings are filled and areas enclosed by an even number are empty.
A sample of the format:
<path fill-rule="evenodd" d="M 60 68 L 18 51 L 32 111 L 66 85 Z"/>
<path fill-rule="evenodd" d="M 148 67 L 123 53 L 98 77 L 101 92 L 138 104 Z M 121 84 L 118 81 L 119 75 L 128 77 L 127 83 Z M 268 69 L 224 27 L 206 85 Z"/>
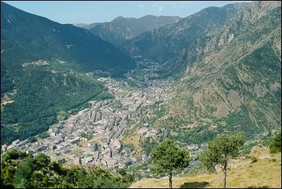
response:
<path fill-rule="evenodd" d="M 26 66 L 14 78 L 15 100 L 1 111 L 1 143 L 24 140 L 48 130 L 58 121 L 59 112 L 66 118 L 87 108 L 94 99 L 113 97 L 92 76 L 75 72 L 53 73 L 47 66 Z M 41 87 L 39 87 L 41 86 Z"/>

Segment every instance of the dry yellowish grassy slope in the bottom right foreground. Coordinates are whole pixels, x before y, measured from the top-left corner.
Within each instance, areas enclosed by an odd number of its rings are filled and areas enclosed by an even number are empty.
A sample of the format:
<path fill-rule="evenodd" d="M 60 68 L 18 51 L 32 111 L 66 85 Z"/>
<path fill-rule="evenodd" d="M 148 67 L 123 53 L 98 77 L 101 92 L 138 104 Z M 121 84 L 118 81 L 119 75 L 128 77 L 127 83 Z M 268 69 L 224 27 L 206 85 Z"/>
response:
<path fill-rule="evenodd" d="M 257 162 L 242 157 L 231 161 L 226 188 L 281 188 L 281 154 L 269 154 L 266 147 L 253 147 L 250 155 Z M 168 178 L 145 178 L 130 188 L 168 188 Z M 214 173 L 173 177 L 173 188 L 222 188 Z"/>

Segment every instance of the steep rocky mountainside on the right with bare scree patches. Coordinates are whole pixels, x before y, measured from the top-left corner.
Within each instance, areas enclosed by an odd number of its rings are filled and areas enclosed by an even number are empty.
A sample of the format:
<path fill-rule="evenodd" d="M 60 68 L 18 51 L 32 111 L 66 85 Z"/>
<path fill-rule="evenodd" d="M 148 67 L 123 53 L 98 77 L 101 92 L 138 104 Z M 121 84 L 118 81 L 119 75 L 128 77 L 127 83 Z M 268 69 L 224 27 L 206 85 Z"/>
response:
<path fill-rule="evenodd" d="M 192 60 L 185 56 L 190 51 Z M 178 140 L 203 142 L 239 130 L 255 138 L 281 128 L 281 1 L 252 2 L 196 39 L 178 61 L 189 66 L 171 89 L 169 114 L 157 123 L 178 127 Z M 188 125 L 202 131 L 180 129 Z"/>

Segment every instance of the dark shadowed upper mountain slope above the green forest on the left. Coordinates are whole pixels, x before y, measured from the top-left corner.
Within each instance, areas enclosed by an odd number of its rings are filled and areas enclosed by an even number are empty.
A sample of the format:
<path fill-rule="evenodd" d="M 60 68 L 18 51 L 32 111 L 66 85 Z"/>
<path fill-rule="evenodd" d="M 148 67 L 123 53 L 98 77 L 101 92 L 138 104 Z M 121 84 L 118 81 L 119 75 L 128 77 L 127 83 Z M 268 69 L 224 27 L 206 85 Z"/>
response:
<path fill-rule="evenodd" d="M 88 30 L 25 13 L 3 2 L 1 26 L 1 49 L 5 51 L 13 43 L 39 59 L 72 61 L 85 71 L 113 69 L 118 74 L 135 67 L 129 56 Z"/>

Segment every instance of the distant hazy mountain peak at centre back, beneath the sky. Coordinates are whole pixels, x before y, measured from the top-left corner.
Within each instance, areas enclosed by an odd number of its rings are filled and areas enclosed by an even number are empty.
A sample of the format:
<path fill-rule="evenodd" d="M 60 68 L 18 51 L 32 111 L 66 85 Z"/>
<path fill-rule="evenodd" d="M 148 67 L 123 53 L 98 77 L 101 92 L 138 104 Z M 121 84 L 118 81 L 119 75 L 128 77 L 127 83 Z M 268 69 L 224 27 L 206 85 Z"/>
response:
<path fill-rule="evenodd" d="M 123 18 L 118 16 L 118 18 L 111 20 L 109 23 L 91 24 L 87 26 L 87 29 L 94 35 L 118 47 L 125 39 L 132 39 L 142 32 L 159 28 L 169 23 L 176 23 L 178 20 L 180 20 L 178 16 L 147 15 L 141 18 Z"/>

